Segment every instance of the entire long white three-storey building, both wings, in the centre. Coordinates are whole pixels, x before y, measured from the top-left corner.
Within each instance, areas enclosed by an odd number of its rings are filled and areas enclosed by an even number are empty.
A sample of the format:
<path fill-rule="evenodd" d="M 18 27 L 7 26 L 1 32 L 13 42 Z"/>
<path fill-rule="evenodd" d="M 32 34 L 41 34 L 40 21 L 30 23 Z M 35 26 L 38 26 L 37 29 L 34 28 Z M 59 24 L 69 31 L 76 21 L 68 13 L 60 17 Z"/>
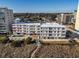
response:
<path fill-rule="evenodd" d="M 13 34 L 39 35 L 40 39 L 65 38 L 65 26 L 57 23 L 16 23 L 13 24 Z"/>

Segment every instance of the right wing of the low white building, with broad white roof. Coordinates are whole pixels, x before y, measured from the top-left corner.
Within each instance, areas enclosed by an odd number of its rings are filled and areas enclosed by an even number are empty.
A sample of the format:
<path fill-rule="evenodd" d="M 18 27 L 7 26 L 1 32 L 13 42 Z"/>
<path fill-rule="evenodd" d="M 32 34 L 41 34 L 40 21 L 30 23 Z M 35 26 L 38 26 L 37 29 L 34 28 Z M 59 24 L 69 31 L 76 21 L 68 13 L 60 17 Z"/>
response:
<path fill-rule="evenodd" d="M 65 38 L 65 26 L 57 23 L 44 23 L 41 25 L 40 38 L 41 39 L 61 39 Z"/>

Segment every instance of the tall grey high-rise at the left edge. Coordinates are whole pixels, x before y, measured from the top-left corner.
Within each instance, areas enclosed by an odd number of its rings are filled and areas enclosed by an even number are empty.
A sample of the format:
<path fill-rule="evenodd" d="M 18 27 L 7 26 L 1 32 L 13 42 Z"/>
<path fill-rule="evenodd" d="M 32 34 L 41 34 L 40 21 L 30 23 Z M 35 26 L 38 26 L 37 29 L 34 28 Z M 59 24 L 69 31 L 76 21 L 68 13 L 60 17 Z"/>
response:
<path fill-rule="evenodd" d="M 13 21 L 13 10 L 0 8 L 0 33 L 9 33 Z"/>

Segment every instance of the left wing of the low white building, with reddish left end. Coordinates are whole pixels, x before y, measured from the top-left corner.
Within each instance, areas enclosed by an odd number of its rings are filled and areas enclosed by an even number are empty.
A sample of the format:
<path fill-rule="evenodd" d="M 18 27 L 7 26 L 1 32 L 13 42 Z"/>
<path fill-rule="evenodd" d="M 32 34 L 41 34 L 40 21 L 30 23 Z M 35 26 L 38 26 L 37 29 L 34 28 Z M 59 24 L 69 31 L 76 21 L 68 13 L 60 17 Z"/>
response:
<path fill-rule="evenodd" d="M 40 34 L 40 23 L 16 23 L 12 28 L 13 34 Z"/>

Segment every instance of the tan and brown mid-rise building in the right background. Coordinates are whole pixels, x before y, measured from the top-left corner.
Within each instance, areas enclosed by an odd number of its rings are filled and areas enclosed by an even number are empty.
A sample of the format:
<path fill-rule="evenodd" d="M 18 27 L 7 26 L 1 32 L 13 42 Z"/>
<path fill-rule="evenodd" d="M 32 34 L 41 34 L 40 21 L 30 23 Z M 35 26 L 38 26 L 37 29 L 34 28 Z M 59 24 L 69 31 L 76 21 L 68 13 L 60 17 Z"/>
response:
<path fill-rule="evenodd" d="M 75 12 L 74 13 L 61 13 L 57 15 L 57 22 L 60 24 L 74 24 Z"/>

